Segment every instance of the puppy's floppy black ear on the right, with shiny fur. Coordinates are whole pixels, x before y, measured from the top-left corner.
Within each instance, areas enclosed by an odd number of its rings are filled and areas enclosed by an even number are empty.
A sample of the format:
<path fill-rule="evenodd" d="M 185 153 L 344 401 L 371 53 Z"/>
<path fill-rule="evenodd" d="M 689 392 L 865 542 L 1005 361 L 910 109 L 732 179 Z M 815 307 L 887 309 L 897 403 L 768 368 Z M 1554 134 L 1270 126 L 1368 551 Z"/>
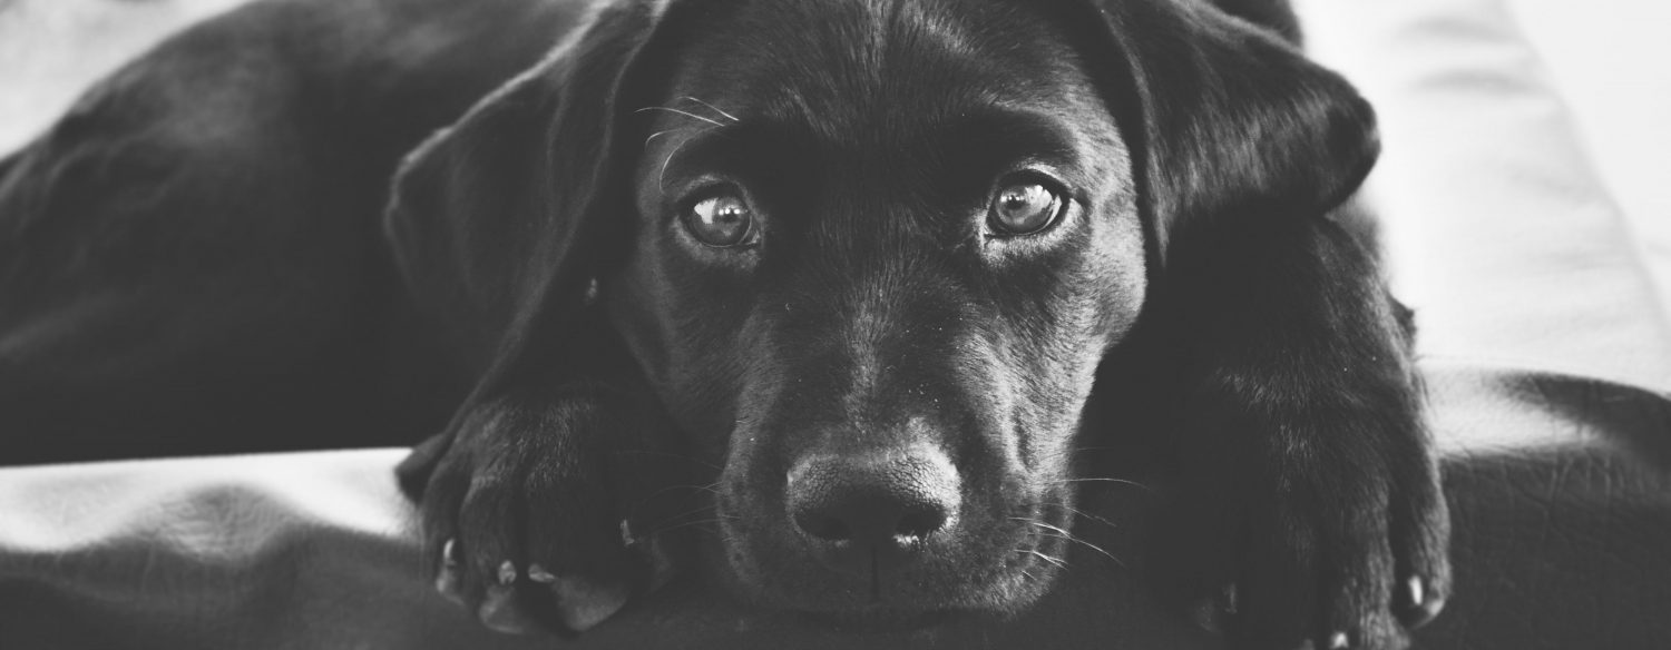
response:
<path fill-rule="evenodd" d="M 1160 262 L 1225 219 L 1315 219 L 1380 152 L 1375 114 L 1277 32 L 1208 2 L 1100 2 L 1125 67 L 1113 105 L 1136 159 Z M 1282 25 L 1277 25 L 1280 28 Z M 1130 142 L 1128 142 L 1130 144 Z"/>

